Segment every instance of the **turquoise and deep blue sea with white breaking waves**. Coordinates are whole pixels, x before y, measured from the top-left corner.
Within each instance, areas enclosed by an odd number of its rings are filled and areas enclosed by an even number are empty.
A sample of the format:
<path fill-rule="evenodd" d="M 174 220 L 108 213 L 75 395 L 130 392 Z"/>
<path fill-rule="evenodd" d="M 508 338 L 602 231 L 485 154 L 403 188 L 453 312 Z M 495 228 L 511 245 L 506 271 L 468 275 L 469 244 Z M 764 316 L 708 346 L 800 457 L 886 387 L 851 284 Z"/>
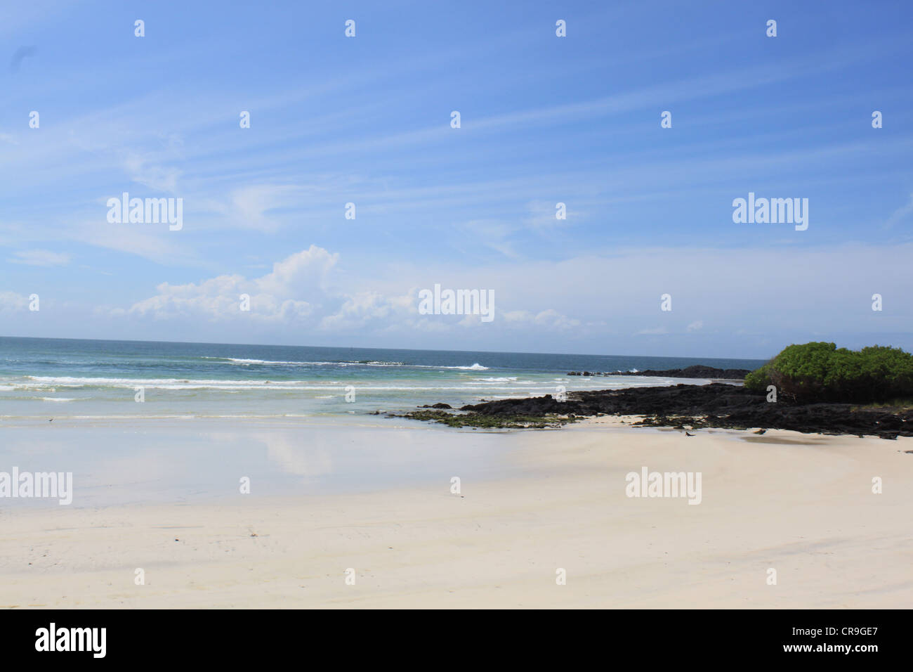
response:
<path fill-rule="evenodd" d="M 634 375 L 755 359 L 618 357 L 352 347 L 0 337 L 0 419 L 306 418 L 444 401 L 682 382 Z M 611 378 L 568 371 L 631 371 Z M 692 381 L 694 382 L 694 381 Z M 138 402 L 138 388 L 143 401 Z"/>

